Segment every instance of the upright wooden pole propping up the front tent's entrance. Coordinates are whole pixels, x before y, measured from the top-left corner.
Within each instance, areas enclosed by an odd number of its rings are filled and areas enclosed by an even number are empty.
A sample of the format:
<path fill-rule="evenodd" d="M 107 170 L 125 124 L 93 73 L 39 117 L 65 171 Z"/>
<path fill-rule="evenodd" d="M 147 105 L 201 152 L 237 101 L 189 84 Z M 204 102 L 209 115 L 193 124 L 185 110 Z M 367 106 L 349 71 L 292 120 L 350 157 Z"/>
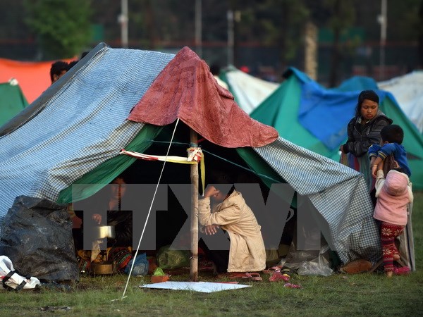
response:
<path fill-rule="evenodd" d="M 190 130 L 191 147 L 197 147 L 197 132 Z M 191 261 L 190 280 L 198 278 L 198 164 L 191 165 Z"/>

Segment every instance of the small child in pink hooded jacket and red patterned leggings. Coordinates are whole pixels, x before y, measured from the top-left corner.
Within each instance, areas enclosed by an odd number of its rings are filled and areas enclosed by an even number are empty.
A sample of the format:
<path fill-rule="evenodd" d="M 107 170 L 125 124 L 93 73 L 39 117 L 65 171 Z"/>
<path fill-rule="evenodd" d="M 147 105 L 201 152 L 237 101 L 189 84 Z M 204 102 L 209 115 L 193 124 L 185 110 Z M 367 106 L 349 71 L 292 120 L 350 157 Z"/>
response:
<path fill-rule="evenodd" d="M 376 177 L 376 207 L 373 217 L 381 221 L 381 244 L 384 271 L 388 278 L 393 275 L 393 261 L 400 259 L 395 238 L 407 225 L 407 204 L 412 203 L 412 183 L 405 173 L 396 168 L 384 177 L 384 163 L 379 164 Z"/>

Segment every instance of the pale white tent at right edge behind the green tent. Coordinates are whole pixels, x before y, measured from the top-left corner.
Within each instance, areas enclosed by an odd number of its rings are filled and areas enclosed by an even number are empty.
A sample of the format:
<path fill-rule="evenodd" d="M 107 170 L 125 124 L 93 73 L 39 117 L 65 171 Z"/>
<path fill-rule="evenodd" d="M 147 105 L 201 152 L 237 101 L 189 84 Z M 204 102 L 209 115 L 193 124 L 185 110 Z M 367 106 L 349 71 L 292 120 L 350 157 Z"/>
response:
<path fill-rule="evenodd" d="M 423 133 L 423 70 L 378 82 L 377 85 L 395 96 L 405 116 Z"/>

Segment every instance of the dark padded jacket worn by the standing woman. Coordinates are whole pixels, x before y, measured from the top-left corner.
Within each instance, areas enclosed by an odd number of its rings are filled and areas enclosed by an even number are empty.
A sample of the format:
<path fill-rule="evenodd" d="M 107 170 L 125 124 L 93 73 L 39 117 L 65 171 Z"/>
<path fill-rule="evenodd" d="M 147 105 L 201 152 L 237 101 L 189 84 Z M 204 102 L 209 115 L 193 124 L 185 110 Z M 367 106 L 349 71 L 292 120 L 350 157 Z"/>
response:
<path fill-rule="evenodd" d="M 343 145 L 345 153 L 360 157 L 367 154 L 372 144 L 381 142 L 381 130 L 390 125 L 392 120 L 378 111 L 376 116 L 365 125 L 361 124 L 361 117 L 354 117 L 348 123 L 348 140 Z"/>

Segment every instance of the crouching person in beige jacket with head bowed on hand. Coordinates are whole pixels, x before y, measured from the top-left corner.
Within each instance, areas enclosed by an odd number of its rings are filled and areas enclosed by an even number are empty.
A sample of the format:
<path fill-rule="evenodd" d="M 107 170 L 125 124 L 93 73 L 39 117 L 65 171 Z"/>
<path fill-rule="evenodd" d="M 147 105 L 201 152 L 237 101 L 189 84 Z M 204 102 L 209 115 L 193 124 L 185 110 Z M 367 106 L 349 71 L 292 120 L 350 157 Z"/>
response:
<path fill-rule="evenodd" d="M 229 278 L 238 278 L 243 275 L 251 277 L 248 272 L 264 270 L 266 251 L 261 227 L 243 195 L 235 190 L 226 173 L 216 173 L 213 185 L 207 186 L 204 198 L 199 199 L 198 209 L 198 219 L 206 235 L 214 235 L 222 228 L 228 232 L 231 240 L 226 255 L 225 250 L 209 250 L 204 242 L 200 244 L 216 265 L 218 273 L 227 271 L 233 273 L 228 275 Z"/>

